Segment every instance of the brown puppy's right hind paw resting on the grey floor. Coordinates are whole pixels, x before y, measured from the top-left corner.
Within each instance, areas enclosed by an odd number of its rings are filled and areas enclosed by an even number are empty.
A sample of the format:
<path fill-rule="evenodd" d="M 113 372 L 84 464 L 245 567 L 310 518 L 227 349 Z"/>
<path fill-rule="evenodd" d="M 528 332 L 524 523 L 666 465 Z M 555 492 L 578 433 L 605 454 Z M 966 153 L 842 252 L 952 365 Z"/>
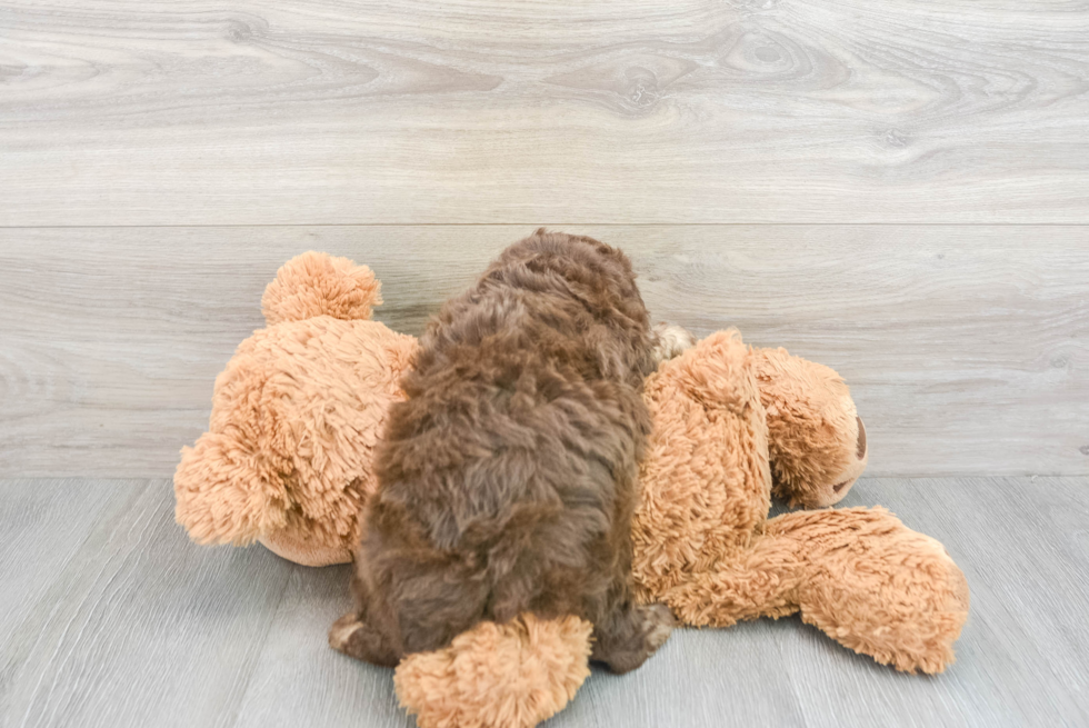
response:
<path fill-rule="evenodd" d="M 666 644 L 675 624 L 665 605 L 626 601 L 606 620 L 593 626 L 590 659 L 605 662 L 617 675 L 630 672 Z"/>

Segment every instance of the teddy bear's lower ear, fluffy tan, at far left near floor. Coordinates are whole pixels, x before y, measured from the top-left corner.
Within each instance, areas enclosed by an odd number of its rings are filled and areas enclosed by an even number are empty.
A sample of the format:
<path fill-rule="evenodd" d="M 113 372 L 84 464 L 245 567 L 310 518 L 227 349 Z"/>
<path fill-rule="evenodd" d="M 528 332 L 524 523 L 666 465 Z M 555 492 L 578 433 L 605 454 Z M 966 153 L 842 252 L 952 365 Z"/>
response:
<path fill-rule="evenodd" d="M 246 546 L 287 523 L 287 489 L 230 436 L 204 432 L 182 448 L 174 518 L 198 543 Z"/>

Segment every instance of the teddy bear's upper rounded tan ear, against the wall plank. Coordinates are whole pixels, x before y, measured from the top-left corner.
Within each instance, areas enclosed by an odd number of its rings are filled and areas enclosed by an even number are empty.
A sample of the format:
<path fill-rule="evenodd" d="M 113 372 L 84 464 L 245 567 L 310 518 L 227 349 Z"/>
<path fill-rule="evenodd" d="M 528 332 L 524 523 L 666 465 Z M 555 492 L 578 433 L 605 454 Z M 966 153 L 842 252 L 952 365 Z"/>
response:
<path fill-rule="evenodd" d="M 277 271 L 261 297 L 261 310 L 269 326 L 316 316 L 369 319 L 382 302 L 381 287 L 367 266 L 311 250 Z"/>

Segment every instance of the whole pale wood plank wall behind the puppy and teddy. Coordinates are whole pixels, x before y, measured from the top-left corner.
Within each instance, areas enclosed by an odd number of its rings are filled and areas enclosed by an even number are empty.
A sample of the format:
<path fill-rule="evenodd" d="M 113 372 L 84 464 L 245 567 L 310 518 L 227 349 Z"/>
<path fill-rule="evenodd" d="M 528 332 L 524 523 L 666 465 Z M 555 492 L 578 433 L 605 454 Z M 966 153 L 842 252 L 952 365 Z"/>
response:
<path fill-rule="evenodd" d="M 1086 0 L 0 2 L 0 477 L 172 471 L 309 248 L 538 225 L 836 367 L 885 476 L 1089 473 Z"/>

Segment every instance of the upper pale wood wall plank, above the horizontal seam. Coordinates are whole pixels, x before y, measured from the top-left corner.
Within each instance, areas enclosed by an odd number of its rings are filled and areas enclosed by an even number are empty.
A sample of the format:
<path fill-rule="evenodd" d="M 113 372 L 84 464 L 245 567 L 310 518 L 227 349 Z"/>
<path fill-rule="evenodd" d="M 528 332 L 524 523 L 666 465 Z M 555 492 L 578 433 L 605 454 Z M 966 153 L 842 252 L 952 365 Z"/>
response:
<path fill-rule="evenodd" d="M 0 225 L 1089 222 L 1086 0 L 0 3 Z"/>

